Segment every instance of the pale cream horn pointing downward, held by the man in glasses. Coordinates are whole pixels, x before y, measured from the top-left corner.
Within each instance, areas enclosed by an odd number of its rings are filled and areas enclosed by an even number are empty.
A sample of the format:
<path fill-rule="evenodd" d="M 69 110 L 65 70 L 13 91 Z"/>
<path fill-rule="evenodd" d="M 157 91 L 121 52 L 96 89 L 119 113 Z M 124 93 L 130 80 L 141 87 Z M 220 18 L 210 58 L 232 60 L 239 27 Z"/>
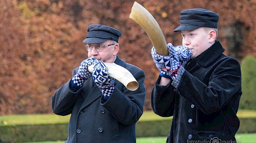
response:
<path fill-rule="evenodd" d="M 126 69 L 114 63 L 104 63 L 107 67 L 109 75 L 121 82 L 128 90 L 135 91 L 139 88 L 139 84 L 135 77 Z M 90 65 L 88 70 L 93 72 L 94 65 Z"/>

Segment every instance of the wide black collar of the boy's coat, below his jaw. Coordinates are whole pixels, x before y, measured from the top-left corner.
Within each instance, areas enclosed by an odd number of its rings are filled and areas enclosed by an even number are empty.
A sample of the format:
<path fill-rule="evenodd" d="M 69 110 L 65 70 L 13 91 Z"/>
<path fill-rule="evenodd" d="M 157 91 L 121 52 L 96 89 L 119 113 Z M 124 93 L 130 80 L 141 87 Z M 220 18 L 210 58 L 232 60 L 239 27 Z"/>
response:
<path fill-rule="evenodd" d="M 220 42 L 216 40 L 210 48 L 198 55 L 194 60 L 202 67 L 209 67 L 224 51 L 225 49 Z"/>

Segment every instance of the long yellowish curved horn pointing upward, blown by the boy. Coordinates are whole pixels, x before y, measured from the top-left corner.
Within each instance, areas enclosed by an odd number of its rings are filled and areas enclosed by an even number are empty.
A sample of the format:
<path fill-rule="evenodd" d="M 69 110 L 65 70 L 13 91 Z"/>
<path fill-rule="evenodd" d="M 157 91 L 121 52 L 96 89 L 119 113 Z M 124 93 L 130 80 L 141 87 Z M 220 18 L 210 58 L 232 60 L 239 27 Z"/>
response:
<path fill-rule="evenodd" d="M 150 12 L 135 1 L 129 18 L 133 19 L 144 29 L 158 54 L 169 55 L 164 34 Z"/>

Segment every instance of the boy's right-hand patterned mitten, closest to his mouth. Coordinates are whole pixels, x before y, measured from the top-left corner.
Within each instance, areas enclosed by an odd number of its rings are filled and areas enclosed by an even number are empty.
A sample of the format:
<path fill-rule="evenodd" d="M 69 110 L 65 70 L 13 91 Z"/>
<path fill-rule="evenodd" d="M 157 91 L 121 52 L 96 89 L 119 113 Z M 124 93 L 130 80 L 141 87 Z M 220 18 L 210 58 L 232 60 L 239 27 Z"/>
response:
<path fill-rule="evenodd" d="M 184 66 L 184 64 L 191 58 L 192 51 L 188 50 L 185 46 L 177 46 L 173 47 L 172 43 L 167 44 L 168 48 L 174 48 L 175 53 L 177 54 L 179 61 L 181 62 L 181 66 Z"/>

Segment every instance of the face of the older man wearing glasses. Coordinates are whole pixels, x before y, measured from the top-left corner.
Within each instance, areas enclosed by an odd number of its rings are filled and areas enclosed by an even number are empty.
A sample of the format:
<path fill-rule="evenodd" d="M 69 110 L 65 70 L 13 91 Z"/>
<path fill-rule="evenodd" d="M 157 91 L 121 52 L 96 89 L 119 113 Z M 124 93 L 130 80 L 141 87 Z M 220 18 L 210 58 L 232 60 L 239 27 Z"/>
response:
<path fill-rule="evenodd" d="M 102 51 L 97 51 L 95 47 L 92 48 L 92 51 L 88 51 L 88 58 L 94 57 L 99 61 L 103 62 L 114 62 L 116 58 L 116 54 L 118 53 L 119 50 L 119 45 L 114 44 L 112 40 L 107 40 L 102 43 L 88 43 L 88 45 L 91 46 L 97 46 L 97 45 L 110 45 L 110 46 L 105 46 Z"/>

